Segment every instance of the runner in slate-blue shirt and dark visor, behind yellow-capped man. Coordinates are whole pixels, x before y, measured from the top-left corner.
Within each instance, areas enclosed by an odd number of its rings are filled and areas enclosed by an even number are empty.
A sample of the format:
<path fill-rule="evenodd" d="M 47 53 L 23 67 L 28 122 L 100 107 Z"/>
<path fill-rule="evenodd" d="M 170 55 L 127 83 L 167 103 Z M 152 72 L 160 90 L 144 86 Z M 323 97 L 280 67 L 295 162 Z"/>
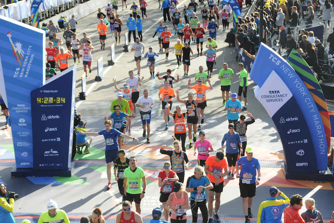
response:
<path fill-rule="evenodd" d="M 224 143 L 226 141 L 226 158 L 228 163 L 228 175 L 227 178 L 234 179 L 235 163 L 238 159 L 239 146 L 242 153 L 242 143 L 238 133 L 234 132 L 234 124 L 228 124 L 228 132 L 224 134 L 221 140 L 221 151 L 224 152 Z"/>

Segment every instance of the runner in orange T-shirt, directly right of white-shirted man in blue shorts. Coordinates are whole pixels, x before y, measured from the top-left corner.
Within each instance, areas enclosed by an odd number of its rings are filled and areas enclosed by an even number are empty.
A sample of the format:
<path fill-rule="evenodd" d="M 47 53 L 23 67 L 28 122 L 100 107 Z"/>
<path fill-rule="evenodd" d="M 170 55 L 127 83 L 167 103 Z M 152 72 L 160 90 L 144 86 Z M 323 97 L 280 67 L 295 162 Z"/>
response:
<path fill-rule="evenodd" d="M 166 104 L 170 104 L 170 108 L 172 108 L 172 98 L 175 98 L 174 89 L 169 87 L 169 81 L 164 81 L 164 87 L 160 88 L 159 90 L 159 100 L 161 101 L 162 110 L 164 111 L 164 119 L 166 123 L 165 130 L 168 129 L 168 122 L 169 122 L 169 113 L 167 112 Z"/>

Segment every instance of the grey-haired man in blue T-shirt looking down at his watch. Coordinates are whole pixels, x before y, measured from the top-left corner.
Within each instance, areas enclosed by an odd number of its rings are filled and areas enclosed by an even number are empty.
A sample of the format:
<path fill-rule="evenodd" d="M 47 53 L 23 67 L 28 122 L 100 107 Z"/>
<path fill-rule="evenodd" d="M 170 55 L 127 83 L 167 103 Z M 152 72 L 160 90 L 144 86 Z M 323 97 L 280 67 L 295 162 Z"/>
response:
<path fill-rule="evenodd" d="M 186 192 L 190 192 L 192 222 L 197 222 L 198 208 L 201 210 L 203 223 L 206 223 L 208 220 L 205 190 L 212 189 L 213 185 L 206 176 L 203 176 L 203 172 L 202 166 L 196 166 L 194 175 L 187 180 Z"/>

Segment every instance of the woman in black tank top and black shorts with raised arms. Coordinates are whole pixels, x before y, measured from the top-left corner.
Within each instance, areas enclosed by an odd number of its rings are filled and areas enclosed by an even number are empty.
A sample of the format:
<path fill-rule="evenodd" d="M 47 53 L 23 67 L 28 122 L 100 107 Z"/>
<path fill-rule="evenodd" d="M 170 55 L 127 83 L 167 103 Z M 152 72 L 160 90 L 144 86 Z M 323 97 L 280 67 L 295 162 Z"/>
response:
<path fill-rule="evenodd" d="M 188 126 L 188 138 L 189 138 L 189 148 L 191 148 L 192 145 L 192 136 L 194 137 L 194 142 L 196 142 L 196 133 L 197 133 L 197 123 L 198 123 L 198 117 L 197 117 L 197 104 L 203 102 L 202 100 L 193 100 L 194 95 L 190 92 L 188 93 L 188 100 L 181 100 L 179 97 L 179 90 L 176 90 L 176 98 L 178 102 L 184 103 L 186 105 L 187 111 L 189 111 L 192 108 L 192 105 L 194 105 L 193 111 L 187 116 L 187 126 Z M 194 129 L 194 134 L 192 135 L 192 129 Z"/>

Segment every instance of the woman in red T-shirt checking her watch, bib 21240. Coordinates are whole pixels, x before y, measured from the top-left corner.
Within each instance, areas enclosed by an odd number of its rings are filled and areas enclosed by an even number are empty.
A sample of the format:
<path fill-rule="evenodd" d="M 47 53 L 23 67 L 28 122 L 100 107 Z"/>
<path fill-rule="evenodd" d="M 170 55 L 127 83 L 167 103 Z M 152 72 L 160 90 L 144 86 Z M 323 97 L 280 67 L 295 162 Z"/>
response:
<path fill-rule="evenodd" d="M 158 185 L 160 187 L 160 202 L 165 207 L 169 195 L 172 193 L 174 182 L 179 178 L 174 171 L 171 170 L 171 163 L 164 162 L 164 170 L 158 174 Z M 164 217 L 168 221 L 168 209 L 164 208 Z"/>

